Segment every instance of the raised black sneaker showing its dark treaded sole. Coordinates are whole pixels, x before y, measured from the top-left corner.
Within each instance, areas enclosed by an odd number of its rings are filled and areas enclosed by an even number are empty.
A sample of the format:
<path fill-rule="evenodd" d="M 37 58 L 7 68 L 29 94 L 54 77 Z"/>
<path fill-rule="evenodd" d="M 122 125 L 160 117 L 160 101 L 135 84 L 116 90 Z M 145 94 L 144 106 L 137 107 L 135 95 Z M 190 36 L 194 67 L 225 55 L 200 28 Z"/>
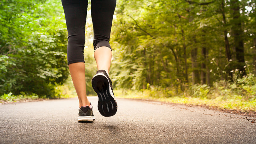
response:
<path fill-rule="evenodd" d="M 98 70 L 92 77 L 92 88 L 99 97 L 98 110 L 102 116 L 114 116 L 117 104 L 113 93 L 112 82 L 105 70 Z"/>

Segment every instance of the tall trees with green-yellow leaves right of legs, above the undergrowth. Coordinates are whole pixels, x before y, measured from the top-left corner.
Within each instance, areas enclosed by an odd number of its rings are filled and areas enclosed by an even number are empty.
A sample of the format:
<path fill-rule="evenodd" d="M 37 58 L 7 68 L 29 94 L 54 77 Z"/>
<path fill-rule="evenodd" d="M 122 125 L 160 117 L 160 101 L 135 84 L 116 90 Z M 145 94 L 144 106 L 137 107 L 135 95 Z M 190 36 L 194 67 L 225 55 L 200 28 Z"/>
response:
<path fill-rule="evenodd" d="M 118 1 L 111 35 L 115 85 L 184 91 L 186 85 L 233 81 L 235 69 L 255 73 L 255 3 Z"/>

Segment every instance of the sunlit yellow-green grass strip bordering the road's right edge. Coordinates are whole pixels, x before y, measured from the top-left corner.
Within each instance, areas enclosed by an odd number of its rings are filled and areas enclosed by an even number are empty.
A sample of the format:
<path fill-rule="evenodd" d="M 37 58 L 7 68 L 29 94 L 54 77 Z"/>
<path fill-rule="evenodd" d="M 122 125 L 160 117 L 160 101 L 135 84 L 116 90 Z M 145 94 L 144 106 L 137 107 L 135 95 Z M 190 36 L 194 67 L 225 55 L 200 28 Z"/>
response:
<path fill-rule="evenodd" d="M 220 109 L 230 109 L 230 110 L 241 110 L 246 111 L 255 111 L 256 112 L 256 99 L 255 98 L 244 98 L 241 95 L 219 95 L 211 98 L 205 97 L 194 97 L 189 96 L 188 94 L 182 94 L 179 96 L 168 95 L 163 96 L 161 91 L 155 92 L 151 90 L 143 91 L 132 91 L 132 90 L 115 90 L 115 95 L 118 98 L 129 98 L 129 99 L 144 99 L 144 100 L 156 100 L 163 102 L 179 103 L 179 104 L 189 104 L 189 105 L 206 105 L 209 107 L 217 107 Z"/>

